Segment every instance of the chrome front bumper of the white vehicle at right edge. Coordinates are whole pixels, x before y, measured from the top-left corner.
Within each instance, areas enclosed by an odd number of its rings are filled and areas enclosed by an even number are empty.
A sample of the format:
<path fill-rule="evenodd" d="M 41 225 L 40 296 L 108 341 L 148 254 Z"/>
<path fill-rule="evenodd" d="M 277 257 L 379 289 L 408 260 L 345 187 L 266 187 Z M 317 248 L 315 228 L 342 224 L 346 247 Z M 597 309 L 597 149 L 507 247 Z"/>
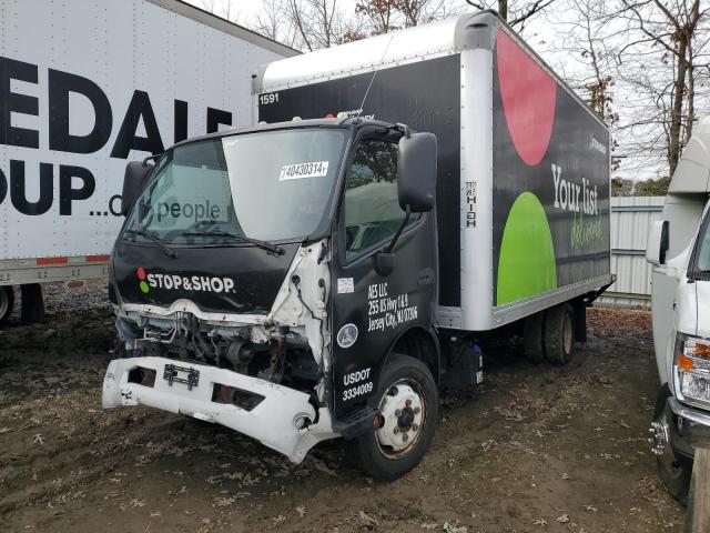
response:
<path fill-rule="evenodd" d="M 697 447 L 710 447 L 710 412 L 684 405 L 669 396 L 666 415 L 673 451 L 692 457 Z"/>

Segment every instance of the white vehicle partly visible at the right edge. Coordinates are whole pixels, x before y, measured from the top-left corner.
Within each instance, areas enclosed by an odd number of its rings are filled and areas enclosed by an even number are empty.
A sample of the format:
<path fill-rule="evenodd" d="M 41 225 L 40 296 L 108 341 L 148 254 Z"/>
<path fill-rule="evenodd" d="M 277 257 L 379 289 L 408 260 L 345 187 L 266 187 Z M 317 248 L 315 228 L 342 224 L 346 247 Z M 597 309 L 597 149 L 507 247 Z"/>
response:
<path fill-rule="evenodd" d="M 710 447 L 710 118 L 696 124 L 648 237 L 660 390 L 650 428 L 658 471 L 687 502 L 692 459 Z"/>

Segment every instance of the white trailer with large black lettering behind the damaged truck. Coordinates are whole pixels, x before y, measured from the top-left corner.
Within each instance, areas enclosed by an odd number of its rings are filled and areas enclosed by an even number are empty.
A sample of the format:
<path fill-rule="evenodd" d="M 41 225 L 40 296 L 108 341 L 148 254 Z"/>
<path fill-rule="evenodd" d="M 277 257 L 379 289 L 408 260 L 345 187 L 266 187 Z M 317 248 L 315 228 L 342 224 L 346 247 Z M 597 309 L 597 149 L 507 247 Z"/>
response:
<path fill-rule="evenodd" d="M 0 0 L 0 323 L 22 289 L 106 275 L 125 160 L 252 123 L 251 73 L 296 52 L 176 0 Z"/>

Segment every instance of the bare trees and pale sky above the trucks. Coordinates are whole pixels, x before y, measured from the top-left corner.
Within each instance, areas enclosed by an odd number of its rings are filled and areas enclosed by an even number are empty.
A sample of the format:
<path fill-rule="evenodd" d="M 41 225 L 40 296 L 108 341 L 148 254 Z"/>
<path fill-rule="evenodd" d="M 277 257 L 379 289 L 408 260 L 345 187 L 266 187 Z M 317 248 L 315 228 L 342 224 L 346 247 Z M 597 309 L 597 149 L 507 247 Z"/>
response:
<path fill-rule="evenodd" d="M 251 20 L 200 1 L 303 51 L 495 9 L 609 125 L 618 195 L 665 194 L 710 111 L 708 0 L 263 0 Z"/>

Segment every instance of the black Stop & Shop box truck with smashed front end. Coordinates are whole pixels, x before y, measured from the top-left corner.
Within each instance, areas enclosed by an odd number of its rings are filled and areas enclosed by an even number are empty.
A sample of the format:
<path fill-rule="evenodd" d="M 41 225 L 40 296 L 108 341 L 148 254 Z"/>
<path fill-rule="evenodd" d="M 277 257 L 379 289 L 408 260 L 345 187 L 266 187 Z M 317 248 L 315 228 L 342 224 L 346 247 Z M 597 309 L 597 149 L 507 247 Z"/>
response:
<path fill-rule="evenodd" d="M 126 168 L 103 406 L 393 480 L 487 341 L 567 363 L 609 273 L 609 135 L 495 13 L 272 62 L 260 123 Z"/>

